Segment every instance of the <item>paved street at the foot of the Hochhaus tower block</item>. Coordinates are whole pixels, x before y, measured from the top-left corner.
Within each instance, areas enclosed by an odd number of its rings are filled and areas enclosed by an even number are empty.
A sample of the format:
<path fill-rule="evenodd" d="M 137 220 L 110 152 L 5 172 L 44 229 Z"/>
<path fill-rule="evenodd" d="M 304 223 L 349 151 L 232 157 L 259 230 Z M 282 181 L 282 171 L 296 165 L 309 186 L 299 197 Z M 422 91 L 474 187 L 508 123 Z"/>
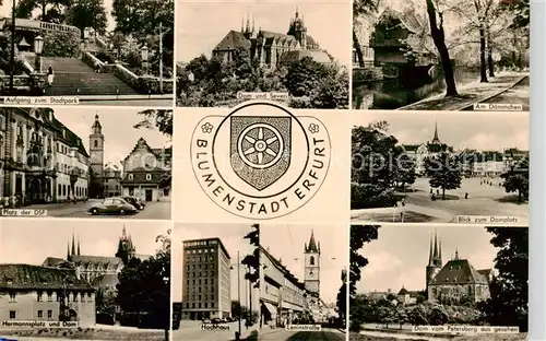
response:
<path fill-rule="evenodd" d="M 173 341 L 183 340 L 212 340 L 212 341 L 232 341 L 235 340 L 235 332 L 238 330 L 238 322 L 229 322 L 229 330 L 201 330 L 201 321 L 180 321 L 180 328 L 173 330 Z M 254 327 L 256 329 L 256 327 Z M 245 328 L 245 320 L 241 320 L 241 340 L 248 338 L 251 333 L 251 328 Z M 260 338 L 262 340 L 262 338 Z"/>

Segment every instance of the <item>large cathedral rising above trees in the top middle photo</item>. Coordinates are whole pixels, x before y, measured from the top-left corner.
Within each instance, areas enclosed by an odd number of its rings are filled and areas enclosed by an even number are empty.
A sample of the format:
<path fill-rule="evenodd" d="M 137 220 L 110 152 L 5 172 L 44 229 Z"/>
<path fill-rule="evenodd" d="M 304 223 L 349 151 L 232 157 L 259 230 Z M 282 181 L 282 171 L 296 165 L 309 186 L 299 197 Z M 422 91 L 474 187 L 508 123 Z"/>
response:
<path fill-rule="evenodd" d="M 276 69 L 278 64 L 287 64 L 299 61 L 305 57 L 310 57 L 317 62 L 331 63 L 332 60 L 327 51 L 319 47 L 319 44 L 307 34 L 304 17 L 296 10 L 295 16 L 290 20 L 286 34 L 256 30 L 254 20 L 252 27 L 250 19 L 247 16 L 241 21 L 240 32 L 229 31 L 227 35 L 216 45 L 212 51 L 213 58 L 218 58 L 225 62 L 234 60 L 238 49 L 248 51 L 251 60 L 257 60 L 260 66 Z"/>

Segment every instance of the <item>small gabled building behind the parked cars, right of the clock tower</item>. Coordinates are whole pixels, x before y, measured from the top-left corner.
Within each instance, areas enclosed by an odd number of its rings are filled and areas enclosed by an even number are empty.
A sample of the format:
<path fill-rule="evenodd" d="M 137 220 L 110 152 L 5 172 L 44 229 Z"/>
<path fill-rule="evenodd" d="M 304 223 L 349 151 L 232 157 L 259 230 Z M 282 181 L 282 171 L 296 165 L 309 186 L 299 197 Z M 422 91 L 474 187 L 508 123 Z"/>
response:
<path fill-rule="evenodd" d="M 140 138 L 122 161 L 121 195 L 142 201 L 158 201 L 170 195 L 173 149 L 152 149 Z"/>

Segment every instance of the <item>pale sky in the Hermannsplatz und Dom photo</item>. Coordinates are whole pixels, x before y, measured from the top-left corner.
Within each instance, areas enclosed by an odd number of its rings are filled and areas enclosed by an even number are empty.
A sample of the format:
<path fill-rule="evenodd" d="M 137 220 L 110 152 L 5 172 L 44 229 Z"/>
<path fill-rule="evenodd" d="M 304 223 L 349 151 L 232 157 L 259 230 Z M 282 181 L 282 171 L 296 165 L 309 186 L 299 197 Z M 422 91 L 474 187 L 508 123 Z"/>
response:
<path fill-rule="evenodd" d="M 22 228 L 24 225 L 24 228 Z M 154 255 L 161 247 L 155 243 L 166 234 L 170 223 L 156 221 L 79 220 L 3 220 L 0 238 L 1 263 L 41 264 L 47 257 L 66 258 L 67 245 L 74 233 L 80 238 L 81 255 L 114 257 L 123 226 L 131 235 L 139 255 Z M 76 244 L 78 245 L 78 244 Z M 22 251 L 24 250 L 24 251 Z"/>

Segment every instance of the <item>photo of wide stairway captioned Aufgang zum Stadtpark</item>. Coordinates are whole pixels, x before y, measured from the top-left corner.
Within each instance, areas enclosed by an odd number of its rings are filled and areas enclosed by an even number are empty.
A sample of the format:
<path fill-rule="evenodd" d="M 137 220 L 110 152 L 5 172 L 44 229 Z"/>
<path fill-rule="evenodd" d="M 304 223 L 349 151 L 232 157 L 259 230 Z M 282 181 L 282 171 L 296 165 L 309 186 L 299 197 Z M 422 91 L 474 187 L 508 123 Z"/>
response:
<path fill-rule="evenodd" d="M 174 0 L 3 2 L 2 102 L 173 106 L 174 11 Z"/>

